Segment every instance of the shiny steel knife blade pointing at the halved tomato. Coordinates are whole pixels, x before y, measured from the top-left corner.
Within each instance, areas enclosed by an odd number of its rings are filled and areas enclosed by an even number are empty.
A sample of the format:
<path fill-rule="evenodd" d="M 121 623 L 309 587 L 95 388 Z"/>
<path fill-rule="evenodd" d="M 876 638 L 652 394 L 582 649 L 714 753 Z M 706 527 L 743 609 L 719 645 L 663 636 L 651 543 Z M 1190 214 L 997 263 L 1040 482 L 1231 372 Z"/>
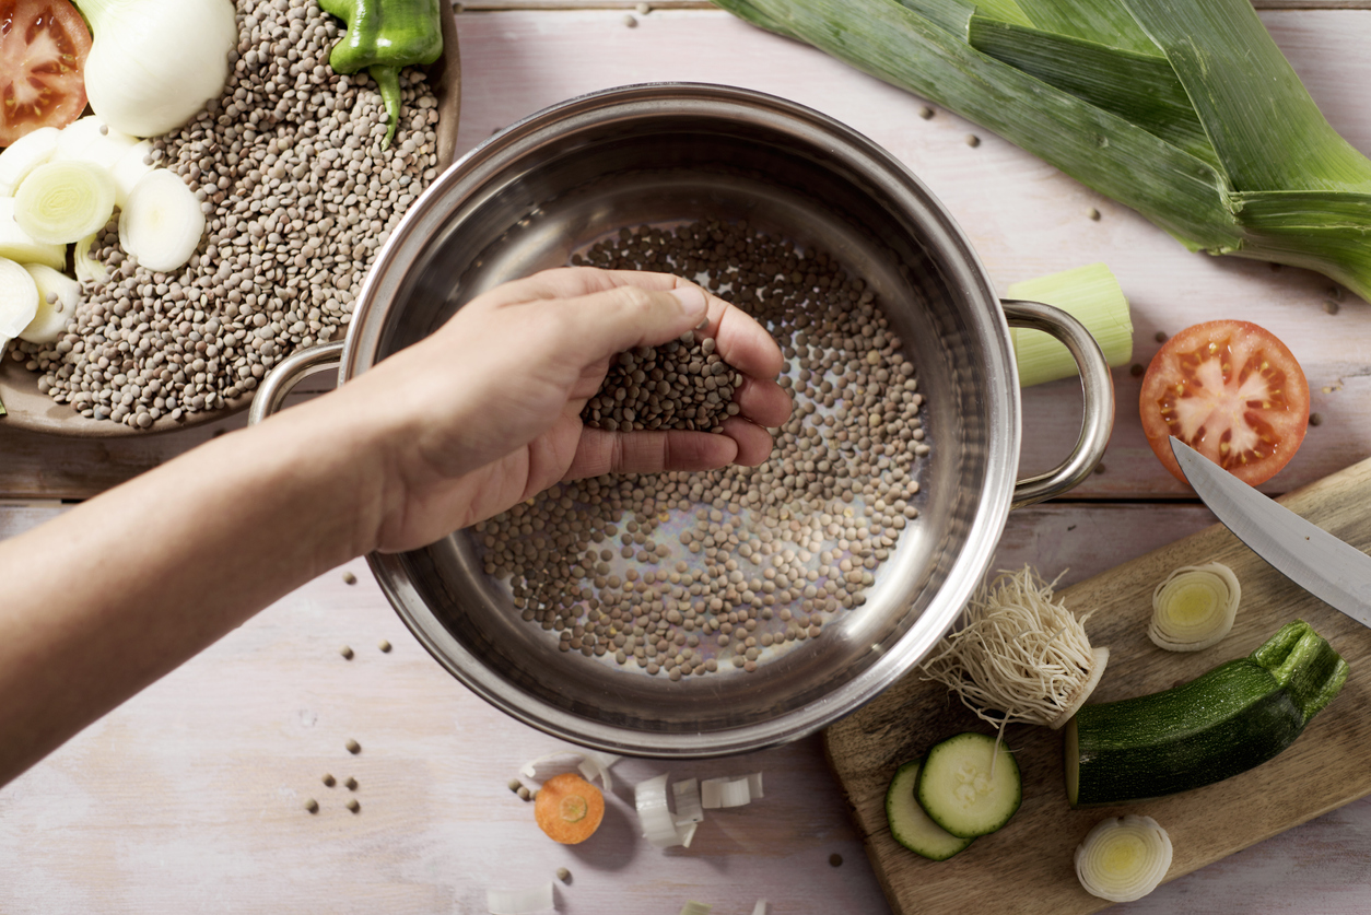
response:
<path fill-rule="evenodd" d="M 1371 627 L 1371 556 L 1263 495 L 1180 439 L 1180 471 L 1224 527 L 1287 579 Z"/>

